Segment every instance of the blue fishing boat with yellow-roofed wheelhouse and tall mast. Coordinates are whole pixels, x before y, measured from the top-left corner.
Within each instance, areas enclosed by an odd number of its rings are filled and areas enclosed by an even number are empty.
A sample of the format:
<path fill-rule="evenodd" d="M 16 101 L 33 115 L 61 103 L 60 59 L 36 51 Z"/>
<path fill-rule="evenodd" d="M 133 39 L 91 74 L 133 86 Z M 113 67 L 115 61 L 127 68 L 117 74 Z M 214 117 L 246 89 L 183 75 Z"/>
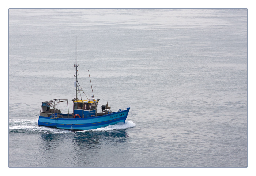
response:
<path fill-rule="evenodd" d="M 75 58 L 77 60 L 76 51 Z M 82 100 L 82 96 L 80 100 L 78 99 L 78 93 L 81 95 L 81 92 L 83 92 L 83 89 L 81 87 L 79 88 L 80 85 L 78 83 L 78 66 L 78 64 L 74 64 L 76 72 L 76 80 L 74 81 L 76 97 L 72 100 L 53 99 L 42 102 L 38 125 L 77 131 L 101 128 L 119 122 L 125 123 L 130 108 L 126 110 L 119 109 L 117 112 L 112 112 L 107 102 L 106 105 L 101 106 L 100 112 L 98 112 L 97 106 L 99 99 L 95 99 L 94 95 L 92 95 L 91 98 L 87 98 L 86 96 L 87 99 L 84 100 Z M 73 103 L 72 113 L 69 113 L 69 102 Z"/>

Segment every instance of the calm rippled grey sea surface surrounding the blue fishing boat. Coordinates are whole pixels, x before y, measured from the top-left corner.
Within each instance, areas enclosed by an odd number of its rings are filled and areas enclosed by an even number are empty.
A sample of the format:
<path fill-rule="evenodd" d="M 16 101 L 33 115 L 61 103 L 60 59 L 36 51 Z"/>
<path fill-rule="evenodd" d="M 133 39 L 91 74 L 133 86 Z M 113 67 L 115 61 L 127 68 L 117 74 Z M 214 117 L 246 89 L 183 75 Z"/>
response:
<path fill-rule="evenodd" d="M 37 125 L 75 97 L 75 36 L 125 124 Z M 247 9 L 9 9 L 9 167 L 247 167 L 247 134 Z"/>

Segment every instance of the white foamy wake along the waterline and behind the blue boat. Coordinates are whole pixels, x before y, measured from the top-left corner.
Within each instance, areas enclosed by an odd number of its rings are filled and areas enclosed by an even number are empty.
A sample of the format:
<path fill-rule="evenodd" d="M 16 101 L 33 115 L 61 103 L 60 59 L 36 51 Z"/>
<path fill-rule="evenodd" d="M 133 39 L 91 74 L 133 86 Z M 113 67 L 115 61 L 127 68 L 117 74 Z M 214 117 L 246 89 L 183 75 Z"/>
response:
<path fill-rule="evenodd" d="M 50 128 L 46 126 L 37 125 L 38 118 L 32 120 L 21 120 L 21 119 L 10 119 L 9 120 L 9 132 L 10 133 L 71 133 L 70 130 L 63 130 L 57 128 Z M 88 131 L 109 131 L 109 130 L 118 130 L 118 129 L 127 129 L 136 126 L 132 121 L 125 121 L 125 123 L 120 122 L 115 125 L 109 125 L 102 128 L 97 128 L 93 130 L 84 130 L 79 132 L 88 132 Z"/>

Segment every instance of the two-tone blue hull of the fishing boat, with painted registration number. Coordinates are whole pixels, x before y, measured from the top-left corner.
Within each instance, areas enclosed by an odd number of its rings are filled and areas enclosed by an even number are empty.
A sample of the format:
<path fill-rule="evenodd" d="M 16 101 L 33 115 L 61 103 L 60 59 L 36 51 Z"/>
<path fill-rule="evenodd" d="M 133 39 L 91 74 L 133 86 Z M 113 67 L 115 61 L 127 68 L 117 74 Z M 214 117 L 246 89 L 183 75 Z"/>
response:
<path fill-rule="evenodd" d="M 56 118 L 39 116 L 38 125 L 69 130 L 90 130 L 125 122 L 130 108 L 111 114 L 87 118 Z"/>

